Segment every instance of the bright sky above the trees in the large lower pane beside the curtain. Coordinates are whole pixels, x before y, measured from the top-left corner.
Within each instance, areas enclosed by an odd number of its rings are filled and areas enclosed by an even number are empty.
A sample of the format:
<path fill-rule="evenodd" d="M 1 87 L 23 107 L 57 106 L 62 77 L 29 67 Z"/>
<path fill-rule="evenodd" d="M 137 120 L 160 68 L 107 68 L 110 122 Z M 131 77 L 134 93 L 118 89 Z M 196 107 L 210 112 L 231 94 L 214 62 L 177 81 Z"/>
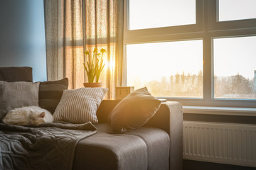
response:
<path fill-rule="evenodd" d="M 142 69 L 143 68 L 143 69 Z M 203 40 L 127 45 L 127 78 L 169 79 L 171 74 L 203 70 Z"/>

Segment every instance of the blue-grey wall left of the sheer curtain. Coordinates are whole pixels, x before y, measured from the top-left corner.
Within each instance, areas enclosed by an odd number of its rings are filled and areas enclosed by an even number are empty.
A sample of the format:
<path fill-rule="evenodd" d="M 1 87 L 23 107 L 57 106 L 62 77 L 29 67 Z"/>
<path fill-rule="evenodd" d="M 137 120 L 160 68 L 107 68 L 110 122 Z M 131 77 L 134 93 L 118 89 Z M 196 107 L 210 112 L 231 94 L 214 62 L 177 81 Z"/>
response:
<path fill-rule="evenodd" d="M 33 81 L 46 81 L 43 0 L 0 1 L 0 67 L 33 68 Z"/>

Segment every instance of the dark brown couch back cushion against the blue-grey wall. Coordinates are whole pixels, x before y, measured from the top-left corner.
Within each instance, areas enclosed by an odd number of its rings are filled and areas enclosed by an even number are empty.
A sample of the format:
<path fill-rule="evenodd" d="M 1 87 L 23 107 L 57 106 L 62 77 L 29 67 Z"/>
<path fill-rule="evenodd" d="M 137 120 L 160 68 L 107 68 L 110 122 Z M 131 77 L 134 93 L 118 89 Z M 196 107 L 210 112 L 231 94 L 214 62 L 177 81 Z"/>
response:
<path fill-rule="evenodd" d="M 0 81 L 30 81 L 33 82 L 31 67 L 0 67 Z"/>

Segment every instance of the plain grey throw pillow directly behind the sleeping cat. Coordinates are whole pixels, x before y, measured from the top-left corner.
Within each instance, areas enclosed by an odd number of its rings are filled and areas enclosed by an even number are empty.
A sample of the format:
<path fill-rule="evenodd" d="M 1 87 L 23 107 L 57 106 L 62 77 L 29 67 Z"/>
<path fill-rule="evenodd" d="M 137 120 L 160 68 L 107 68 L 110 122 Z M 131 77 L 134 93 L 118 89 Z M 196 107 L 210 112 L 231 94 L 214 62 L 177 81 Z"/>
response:
<path fill-rule="evenodd" d="M 0 81 L 0 121 L 6 113 L 23 106 L 38 106 L 39 83 Z"/>

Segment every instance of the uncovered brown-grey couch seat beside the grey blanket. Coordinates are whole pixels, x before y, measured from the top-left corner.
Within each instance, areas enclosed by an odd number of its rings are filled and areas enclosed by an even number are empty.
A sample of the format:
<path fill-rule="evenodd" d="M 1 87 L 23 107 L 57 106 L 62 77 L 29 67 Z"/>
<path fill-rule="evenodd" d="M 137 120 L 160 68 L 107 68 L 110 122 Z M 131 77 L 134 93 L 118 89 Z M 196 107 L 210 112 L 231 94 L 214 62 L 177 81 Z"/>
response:
<path fill-rule="evenodd" d="M 73 169 L 169 169 L 169 135 L 164 130 L 142 127 L 114 134 L 110 124 L 95 126 L 97 134 L 78 142 Z"/>

